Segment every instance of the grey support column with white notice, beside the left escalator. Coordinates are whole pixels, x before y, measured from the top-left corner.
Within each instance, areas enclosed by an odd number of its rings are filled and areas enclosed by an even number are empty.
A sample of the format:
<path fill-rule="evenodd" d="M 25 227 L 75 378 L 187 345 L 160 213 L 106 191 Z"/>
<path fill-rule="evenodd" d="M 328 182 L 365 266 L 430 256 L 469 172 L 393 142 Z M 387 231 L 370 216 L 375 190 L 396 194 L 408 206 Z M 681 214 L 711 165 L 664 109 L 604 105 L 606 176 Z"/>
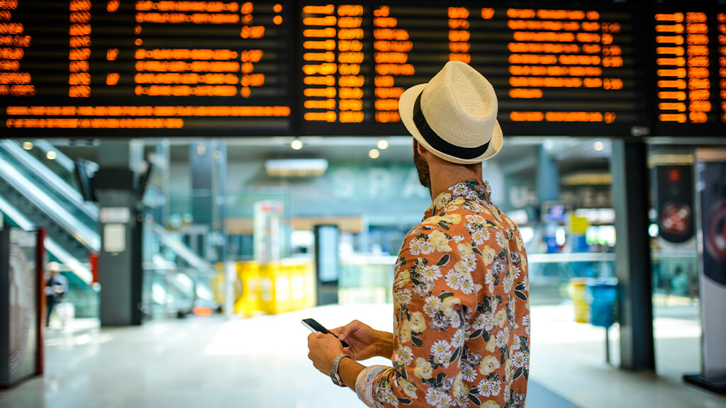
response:
<path fill-rule="evenodd" d="M 142 217 L 138 171 L 143 144 L 103 141 L 94 177 L 99 200 L 100 311 L 102 326 L 140 325 Z"/>

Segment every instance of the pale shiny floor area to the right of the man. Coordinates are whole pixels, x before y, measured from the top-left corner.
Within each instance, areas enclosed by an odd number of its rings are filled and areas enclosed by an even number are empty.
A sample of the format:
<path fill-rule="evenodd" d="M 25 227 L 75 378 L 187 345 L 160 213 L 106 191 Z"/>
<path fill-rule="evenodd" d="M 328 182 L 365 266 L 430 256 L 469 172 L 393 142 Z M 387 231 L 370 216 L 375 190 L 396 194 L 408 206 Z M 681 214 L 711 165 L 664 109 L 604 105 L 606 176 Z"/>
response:
<path fill-rule="evenodd" d="M 626 372 L 619 364 L 617 326 L 611 328 L 612 364 L 605 364 L 605 333 L 571 320 L 571 306 L 532 308 L 531 378 L 587 408 L 723 408 L 726 398 L 686 385 L 682 375 L 701 362 L 698 311 L 656 310 L 658 375 Z"/>

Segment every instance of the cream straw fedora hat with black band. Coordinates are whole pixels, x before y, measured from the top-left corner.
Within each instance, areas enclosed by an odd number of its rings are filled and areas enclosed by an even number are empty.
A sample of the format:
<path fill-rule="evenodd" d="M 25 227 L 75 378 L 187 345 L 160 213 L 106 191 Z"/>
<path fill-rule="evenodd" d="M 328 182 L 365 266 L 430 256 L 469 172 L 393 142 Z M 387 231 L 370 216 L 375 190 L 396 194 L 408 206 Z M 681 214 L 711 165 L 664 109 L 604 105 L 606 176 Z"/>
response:
<path fill-rule="evenodd" d="M 426 150 L 446 161 L 475 164 L 502 149 L 497 95 L 489 81 L 460 61 L 446 62 L 428 83 L 399 99 L 401 121 Z"/>

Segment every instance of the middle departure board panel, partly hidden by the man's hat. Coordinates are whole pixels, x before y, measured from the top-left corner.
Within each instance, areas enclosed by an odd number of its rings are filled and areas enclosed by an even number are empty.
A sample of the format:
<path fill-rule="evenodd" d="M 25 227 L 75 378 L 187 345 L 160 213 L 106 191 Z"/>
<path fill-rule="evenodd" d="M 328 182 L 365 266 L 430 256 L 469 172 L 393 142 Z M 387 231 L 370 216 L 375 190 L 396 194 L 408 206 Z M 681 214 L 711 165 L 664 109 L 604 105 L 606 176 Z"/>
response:
<path fill-rule="evenodd" d="M 400 132 L 401 93 L 449 60 L 489 79 L 505 134 L 629 136 L 648 126 L 632 4 L 481 4 L 301 5 L 303 133 Z"/>

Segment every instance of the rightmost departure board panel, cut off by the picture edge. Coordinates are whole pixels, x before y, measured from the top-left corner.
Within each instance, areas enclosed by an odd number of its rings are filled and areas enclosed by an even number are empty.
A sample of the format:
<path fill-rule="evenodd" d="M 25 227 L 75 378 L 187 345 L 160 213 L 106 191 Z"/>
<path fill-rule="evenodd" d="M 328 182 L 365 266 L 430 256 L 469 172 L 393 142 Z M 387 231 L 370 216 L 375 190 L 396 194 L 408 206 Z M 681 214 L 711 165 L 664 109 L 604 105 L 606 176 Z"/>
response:
<path fill-rule="evenodd" d="M 726 136 L 726 7 L 666 6 L 653 20 L 656 134 Z"/>

